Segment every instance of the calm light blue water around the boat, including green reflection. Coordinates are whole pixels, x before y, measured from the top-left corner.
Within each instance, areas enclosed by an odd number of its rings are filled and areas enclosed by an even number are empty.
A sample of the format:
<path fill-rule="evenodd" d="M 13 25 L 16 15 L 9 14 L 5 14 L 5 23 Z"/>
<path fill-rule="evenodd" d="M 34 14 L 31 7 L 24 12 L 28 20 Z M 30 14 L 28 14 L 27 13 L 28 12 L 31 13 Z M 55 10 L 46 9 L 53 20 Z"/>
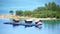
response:
<path fill-rule="evenodd" d="M 60 34 L 60 20 L 43 20 L 41 29 L 3 24 L 10 21 L 10 19 L 0 19 L 0 34 Z M 21 22 L 24 21 L 21 20 Z"/>

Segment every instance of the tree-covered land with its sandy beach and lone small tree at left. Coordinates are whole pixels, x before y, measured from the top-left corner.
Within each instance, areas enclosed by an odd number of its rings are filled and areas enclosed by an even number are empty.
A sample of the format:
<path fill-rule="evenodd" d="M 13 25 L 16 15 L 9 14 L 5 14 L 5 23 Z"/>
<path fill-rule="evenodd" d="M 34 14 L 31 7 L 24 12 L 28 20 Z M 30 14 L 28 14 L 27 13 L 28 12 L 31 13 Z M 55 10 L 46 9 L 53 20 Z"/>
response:
<path fill-rule="evenodd" d="M 60 19 L 60 6 L 55 2 L 46 3 L 44 7 L 37 7 L 34 10 L 13 10 L 10 14 L 0 14 L 0 18 L 32 19 L 32 20 L 56 20 Z"/>

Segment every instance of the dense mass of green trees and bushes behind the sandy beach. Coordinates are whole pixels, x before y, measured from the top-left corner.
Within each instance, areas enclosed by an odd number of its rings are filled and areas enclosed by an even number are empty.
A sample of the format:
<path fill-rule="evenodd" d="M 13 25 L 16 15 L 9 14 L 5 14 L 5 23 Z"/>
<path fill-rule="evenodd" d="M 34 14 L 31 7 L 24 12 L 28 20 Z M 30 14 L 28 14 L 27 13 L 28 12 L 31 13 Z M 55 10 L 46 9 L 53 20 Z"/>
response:
<path fill-rule="evenodd" d="M 60 6 L 55 2 L 49 2 L 44 7 L 37 7 L 34 10 L 17 10 L 16 15 L 36 18 L 60 18 Z"/>

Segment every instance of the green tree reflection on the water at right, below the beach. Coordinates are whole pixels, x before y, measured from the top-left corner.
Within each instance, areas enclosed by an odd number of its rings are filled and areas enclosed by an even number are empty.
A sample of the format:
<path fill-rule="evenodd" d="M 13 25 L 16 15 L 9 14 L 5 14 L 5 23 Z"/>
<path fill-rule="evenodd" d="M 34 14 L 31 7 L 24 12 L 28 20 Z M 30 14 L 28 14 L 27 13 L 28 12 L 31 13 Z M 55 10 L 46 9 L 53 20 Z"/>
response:
<path fill-rule="evenodd" d="M 43 20 L 44 27 L 54 30 L 60 27 L 60 20 Z"/>

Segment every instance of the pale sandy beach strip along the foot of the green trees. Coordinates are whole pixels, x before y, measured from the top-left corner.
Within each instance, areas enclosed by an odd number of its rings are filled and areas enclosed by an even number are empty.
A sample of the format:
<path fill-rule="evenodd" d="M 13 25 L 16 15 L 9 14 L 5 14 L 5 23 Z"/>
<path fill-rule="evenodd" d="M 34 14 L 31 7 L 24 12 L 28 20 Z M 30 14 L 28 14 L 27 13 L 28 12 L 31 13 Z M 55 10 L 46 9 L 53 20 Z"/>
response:
<path fill-rule="evenodd" d="M 56 18 L 33 18 L 33 17 L 24 17 L 24 16 L 15 16 L 15 15 L 0 15 L 0 18 L 12 18 L 12 19 L 25 19 L 25 20 L 56 20 Z"/>

